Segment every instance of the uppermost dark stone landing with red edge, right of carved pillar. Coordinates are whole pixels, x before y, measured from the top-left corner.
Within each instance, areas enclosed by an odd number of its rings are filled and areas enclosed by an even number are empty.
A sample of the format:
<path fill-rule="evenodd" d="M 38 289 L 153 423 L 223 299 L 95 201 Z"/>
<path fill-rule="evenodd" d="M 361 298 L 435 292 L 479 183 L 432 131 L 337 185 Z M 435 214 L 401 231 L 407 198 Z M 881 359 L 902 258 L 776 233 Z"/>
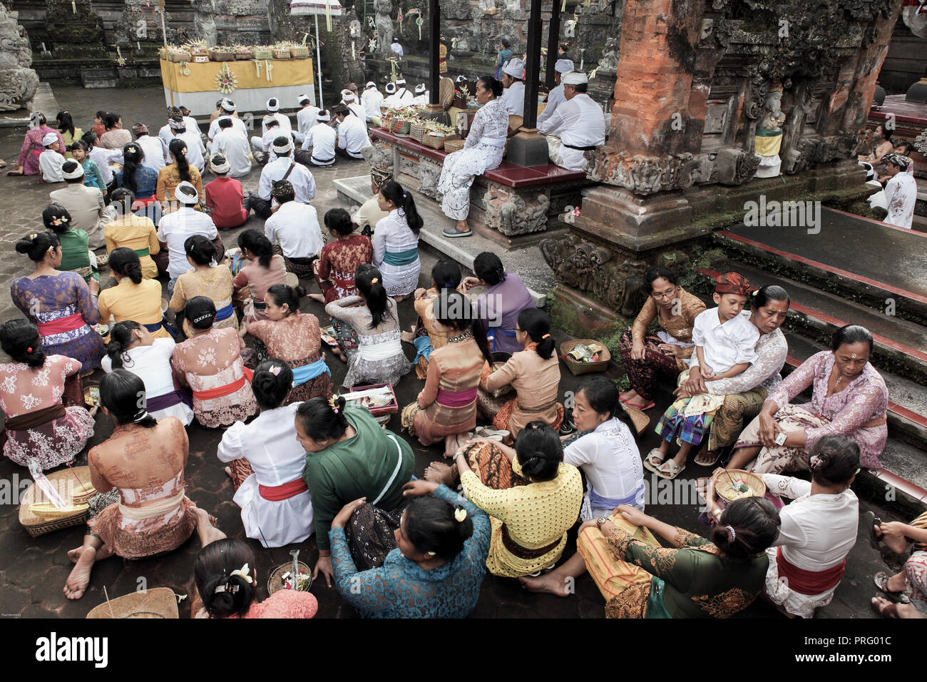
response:
<path fill-rule="evenodd" d="M 927 325 L 927 235 L 827 208 L 820 217 L 818 234 L 738 225 L 715 241 L 744 263 Z"/>

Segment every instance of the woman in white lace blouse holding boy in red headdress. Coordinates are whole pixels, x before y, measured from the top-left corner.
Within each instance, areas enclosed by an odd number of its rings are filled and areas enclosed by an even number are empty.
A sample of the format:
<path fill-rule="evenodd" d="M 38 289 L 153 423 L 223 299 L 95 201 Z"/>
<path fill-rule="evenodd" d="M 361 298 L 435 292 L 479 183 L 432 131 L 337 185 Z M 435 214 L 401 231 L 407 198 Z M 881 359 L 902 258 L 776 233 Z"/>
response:
<path fill-rule="evenodd" d="M 759 414 L 769 391 L 782 380 L 780 372 L 789 352 L 781 325 L 789 313 L 791 299 L 786 290 L 775 285 L 763 287 L 750 296 L 750 323 L 760 333 L 756 341 L 756 361 L 742 374 L 728 379 L 705 379 L 698 357 L 692 354 L 689 379 L 676 390 L 679 398 L 701 393 L 723 395 L 724 403 L 717 409 L 708 431 L 708 438 L 695 457 L 695 464 L 711 467 L 721 457 L 724 448 L 734 443 L 743 430 L 744 418 Z M 741 313 L 741 315 L 748 315 Z"/>

